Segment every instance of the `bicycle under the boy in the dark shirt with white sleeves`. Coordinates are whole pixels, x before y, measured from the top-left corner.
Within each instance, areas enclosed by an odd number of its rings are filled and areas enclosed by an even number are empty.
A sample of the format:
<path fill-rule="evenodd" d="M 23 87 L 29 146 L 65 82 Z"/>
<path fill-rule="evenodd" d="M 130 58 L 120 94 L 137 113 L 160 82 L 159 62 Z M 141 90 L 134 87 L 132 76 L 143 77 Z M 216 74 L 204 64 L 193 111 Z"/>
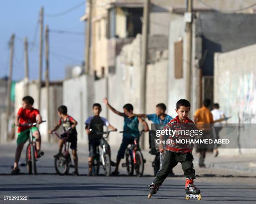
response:
<path fill-rule="evenodd" d="M 98 135 L 107 134 L 107 136 L 103 136 L 104 139 L 107 139 L 110 132 L 113 132 L 113 130 L 105 131 L 105 132 L 96 132 Z M 110 156 L 105 148 L 105 143 L 102 145 L 102 152 L 100 154 L 99 146 L 97 146 L 96 149 L 96 156 L 93 158 L 92 161 L 92 175 L 97 176 L 100 172 L 100 165 L 103 166 L 103 170 L 106 176 L 110 176 L 111 174 L 111 161 Z"/>

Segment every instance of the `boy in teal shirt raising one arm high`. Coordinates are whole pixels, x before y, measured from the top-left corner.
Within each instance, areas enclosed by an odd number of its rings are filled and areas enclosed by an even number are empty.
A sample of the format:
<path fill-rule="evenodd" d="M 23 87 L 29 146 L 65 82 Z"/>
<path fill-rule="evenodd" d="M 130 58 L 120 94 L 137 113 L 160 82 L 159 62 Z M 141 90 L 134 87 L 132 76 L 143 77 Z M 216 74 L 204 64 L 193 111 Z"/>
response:
<path fill-rule="evenodd" d="M 146 121 L 144 121 L 142 118 L 137 117 L 137 116 L 133 116 L 133 117 L 129 118 L 129 116 L 131 116 L 131 114 L 133 114 L 133 105 L 131 105 L 130 103 L 127 103 L 123 106 L 123 113 L 121 113 L 121 112 L 115 110 L 115 108 L 113 108 L 112 106 L 110 106 L 107 98 L 104 98 L 103 101 L 111 111 L 118 114 L 119 116 L 124 117 L 123 141 L 120 145 L 120 149 L 118 151 L 118 155 L 116 158 L 115 171 L 112 172 L 112 175 L 118 175 L 119 174 L 118 166 L 120 164 L 121 159 L 124 158 L 125 149 L 127 148 L 127 146 L 129 144 L 134 143 L 135 137 L 140 136 L 139 130 L 138 130 L 138 123 L 141 122 L 143 124 L 145 132 L 148 131 L 148 123 L 146 123 Z M 129 133 L 129 132 L 131 132 L 131 133 Z"/>

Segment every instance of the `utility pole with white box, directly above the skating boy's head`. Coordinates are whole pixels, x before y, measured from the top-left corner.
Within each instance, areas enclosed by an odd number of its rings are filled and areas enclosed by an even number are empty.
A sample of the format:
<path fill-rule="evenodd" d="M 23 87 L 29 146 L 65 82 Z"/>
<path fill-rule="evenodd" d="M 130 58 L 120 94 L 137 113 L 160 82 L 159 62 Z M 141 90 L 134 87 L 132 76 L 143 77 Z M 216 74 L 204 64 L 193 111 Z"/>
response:
<path fill-rule="evenodd" d="M 192 73 L 192 23 L 193 23 L 193 0 L 187 0 L 187 15 L 186 18 L 186 69 L 187 69 L 187 100 L 191 102 L 191 73 Z"/>

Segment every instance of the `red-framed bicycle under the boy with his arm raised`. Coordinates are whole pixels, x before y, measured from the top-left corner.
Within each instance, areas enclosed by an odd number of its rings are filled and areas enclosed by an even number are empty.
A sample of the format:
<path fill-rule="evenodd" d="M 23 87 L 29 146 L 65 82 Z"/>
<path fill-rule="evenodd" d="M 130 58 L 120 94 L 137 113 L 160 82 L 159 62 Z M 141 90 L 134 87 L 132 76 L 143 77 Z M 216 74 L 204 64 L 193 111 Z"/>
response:
<path fill-rule="evenodd" d="M 120 133 L 127 133 L 127 131 L 120 131 Z M 142 131 L 135 131 L 135 132 L 128 132 L 128 133 L 139 133 L 139 137 L 144 132 Z M 125 150 L 125 163 L 122 164 L 122 167 L 126 167 L 127 173 L 129 176 L 133 176 L 134 169 L 136 172 L 136 175 L 141 177 L 143 175 L 144 171 L 144 163 L 146 163 L 146 159 L 143 159 L 143 154 L 140 150 L 139 144 L 138 144 L 138 138 L 134 138 L 134 143 L 131 144 L 126 150 Z"/>

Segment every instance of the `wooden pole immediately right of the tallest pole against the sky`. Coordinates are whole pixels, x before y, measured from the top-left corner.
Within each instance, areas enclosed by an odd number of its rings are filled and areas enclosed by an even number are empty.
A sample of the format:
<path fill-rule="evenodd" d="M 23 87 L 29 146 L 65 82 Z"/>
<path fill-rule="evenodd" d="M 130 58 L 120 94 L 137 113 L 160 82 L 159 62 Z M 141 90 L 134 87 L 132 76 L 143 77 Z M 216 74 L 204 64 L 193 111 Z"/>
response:
<path fill-rule="evenodd" d="M 47 95 L 47 130 L 50 129 L 49 122 L 50 122 L 50 93 L 49 93 L 49 27 L 46 25 L 45 28 L 45 85 L 46 85 L 46 95 Z M 48 141 L 50 141 L 49 134 L 48 134 Z"/>

